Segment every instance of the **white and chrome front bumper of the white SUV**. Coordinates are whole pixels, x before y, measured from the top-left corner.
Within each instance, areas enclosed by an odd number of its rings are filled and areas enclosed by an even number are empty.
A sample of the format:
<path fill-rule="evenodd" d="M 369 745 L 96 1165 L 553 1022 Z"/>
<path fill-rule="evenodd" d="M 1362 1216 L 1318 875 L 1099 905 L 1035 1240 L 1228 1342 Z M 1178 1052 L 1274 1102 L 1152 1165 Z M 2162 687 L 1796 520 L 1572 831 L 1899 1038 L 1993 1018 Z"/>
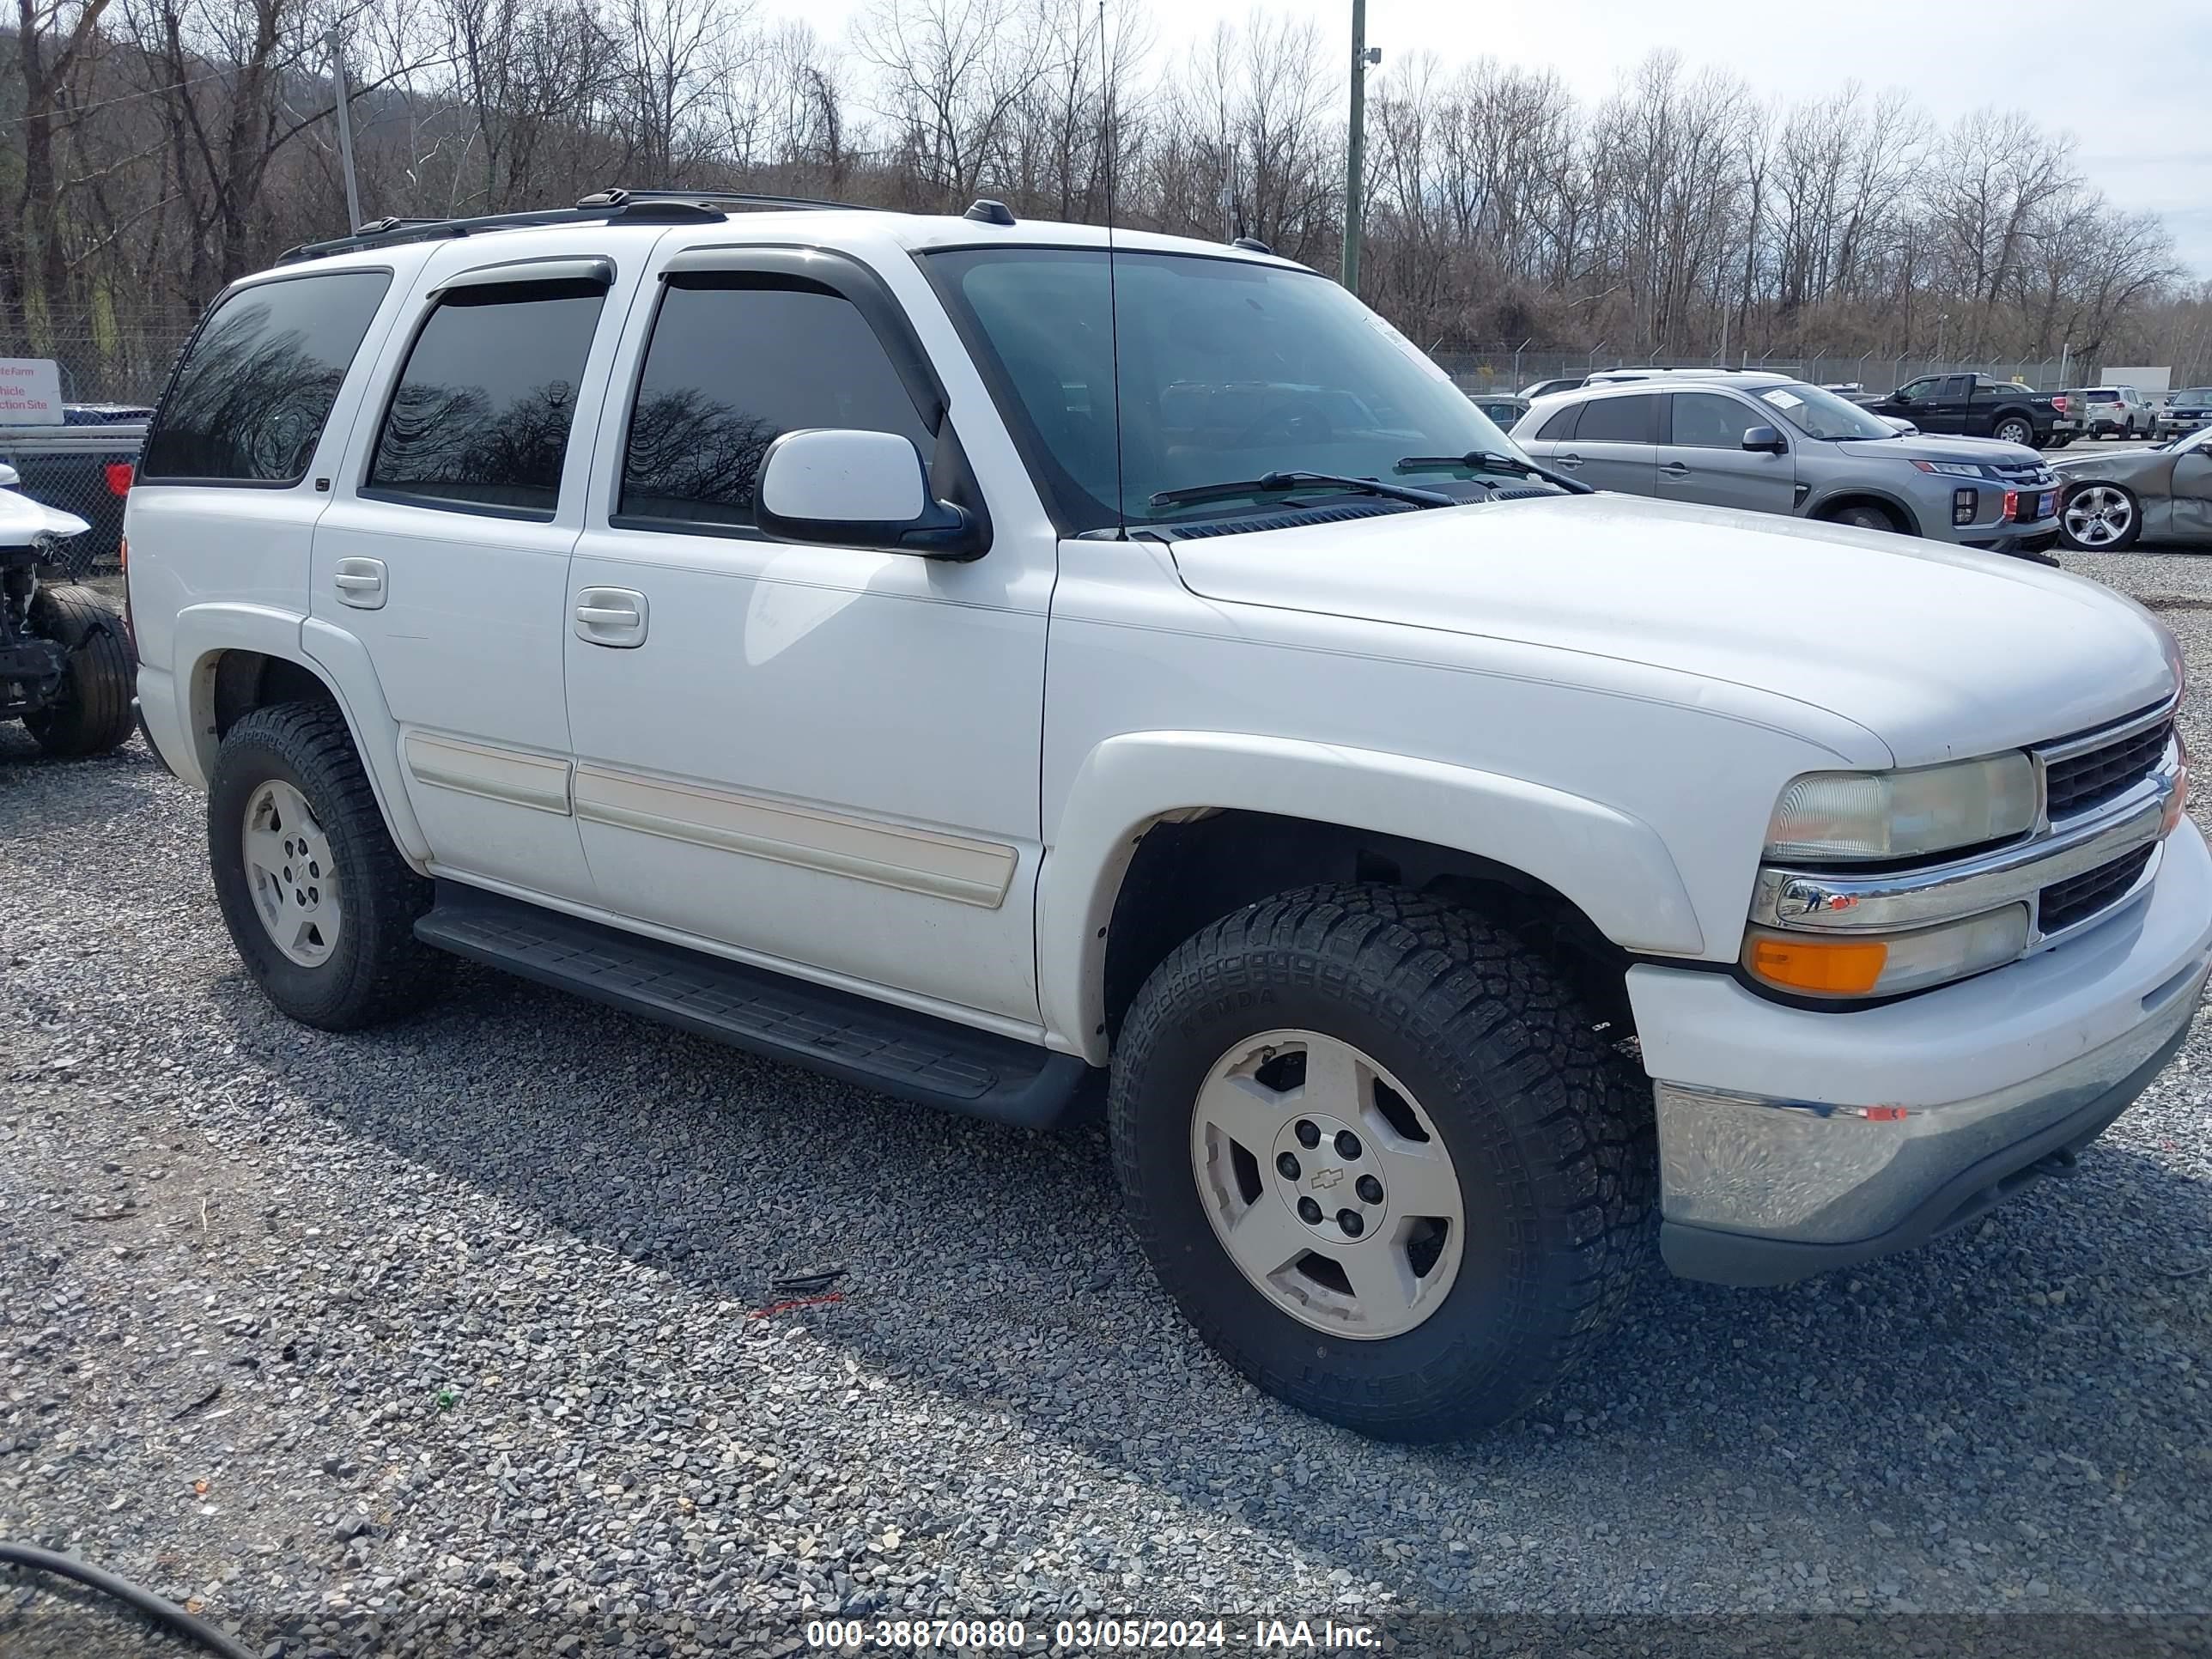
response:
<path fill-rule="evenodd" d="M 2064 1168 L 2172 1057 L 2212 971 L 2212 854 L 2183 821 L 2157 863 L 2066 945 L 1865 1011 L 1630 969 L 1668 1265 L 1778 1285 L 1922 1243 Z"/>

